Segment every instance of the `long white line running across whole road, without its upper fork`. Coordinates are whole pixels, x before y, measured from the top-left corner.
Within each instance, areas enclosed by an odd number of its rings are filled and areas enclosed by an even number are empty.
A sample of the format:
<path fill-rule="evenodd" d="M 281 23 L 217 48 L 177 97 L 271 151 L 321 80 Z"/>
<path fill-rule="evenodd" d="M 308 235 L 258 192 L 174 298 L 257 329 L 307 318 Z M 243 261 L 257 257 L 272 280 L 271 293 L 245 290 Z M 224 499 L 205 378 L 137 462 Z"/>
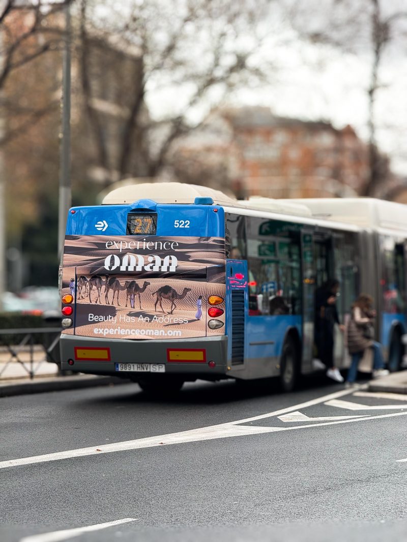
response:
<path fill-rule="evenodd" d="M 376 420 L 378 418 L 390 418 L 393 416 L 405 416 L 407 412 L 393 412 L 393 414 L 382 414 L 379 416 L 352 417 L 350 420 L 339 420 L 335 422 L 311 423 L 307 425 L 297 425 L 296 427 L 253 427 L 252 425 L 212 425 L 190 431 L 181 431 L 180 433 L 170 433 L 155 437 L 139 438 L 138 440 L 116 442 L 113 444 L 101 445 L 100 448 L 80 448 L 67 450 L 54 454 L 37 455 L 33 457 L 23 457 L 22 459 L 13 459 L 2 461 L 0 469 L 8 467 L 17 467 L 33 463 L 44 463 L 49 461 L 58 461 L 69 459 L 71 457 L 85 457 L 98 454 L 109 454 L 115 451 L 136 450 L 141 448 L 153 448 L 158 446 L 168 446 L 169 444 L 182 444 L 187 442 L 198 442 L 204 440 L 214 440 L 216 438 L 228 438 L 234 436 L 257 435 L 262 433 L 277 433 L 278 431 L 291 431 L 296 429 L 308 429 L 318 427 L 319 425 L 335 425 L 338 423 L 362 422 L 365 420 Z"/>

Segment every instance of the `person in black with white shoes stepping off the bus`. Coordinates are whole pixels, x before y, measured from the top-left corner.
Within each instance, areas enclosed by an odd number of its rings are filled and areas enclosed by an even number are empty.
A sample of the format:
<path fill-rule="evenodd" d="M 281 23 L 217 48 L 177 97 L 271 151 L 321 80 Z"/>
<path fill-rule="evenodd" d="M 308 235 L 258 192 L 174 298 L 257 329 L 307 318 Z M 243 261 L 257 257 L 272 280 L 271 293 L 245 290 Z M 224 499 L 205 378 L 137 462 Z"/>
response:
<path fill-rule="evenodd" d="M 341 331 L 345 326 L 339 322 L 336 298 L 339 295 L 339 280 L 329 279 L 315 293 L 315 344 L 318 358 L 327 367 L 327 377 L 344 382 L 339 370 L 334 365 L 334 327 L 338 324 Z"/>

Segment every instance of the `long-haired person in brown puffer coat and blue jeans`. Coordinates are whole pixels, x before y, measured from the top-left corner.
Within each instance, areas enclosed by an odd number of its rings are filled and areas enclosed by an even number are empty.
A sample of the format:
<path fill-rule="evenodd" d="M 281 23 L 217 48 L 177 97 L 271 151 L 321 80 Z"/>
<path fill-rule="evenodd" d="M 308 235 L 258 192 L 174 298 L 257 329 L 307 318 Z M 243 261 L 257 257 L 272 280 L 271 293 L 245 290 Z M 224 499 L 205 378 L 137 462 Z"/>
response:
<path fill-rule="evenodd" d="M 348 350 L 352 356 L 346 385 L 354 385 L 358 374 L 359 362 L 367 348 L 373 349 L 373 377 L 385 376 L 389 371 L 383 369 L 384 361 L 381 345 L 373 340 L 373 321 L 376 311 L 373 309 L 373 298 L 368 294 L 360 294 L 352 305 L 352 318 L 348 325 Z"/>

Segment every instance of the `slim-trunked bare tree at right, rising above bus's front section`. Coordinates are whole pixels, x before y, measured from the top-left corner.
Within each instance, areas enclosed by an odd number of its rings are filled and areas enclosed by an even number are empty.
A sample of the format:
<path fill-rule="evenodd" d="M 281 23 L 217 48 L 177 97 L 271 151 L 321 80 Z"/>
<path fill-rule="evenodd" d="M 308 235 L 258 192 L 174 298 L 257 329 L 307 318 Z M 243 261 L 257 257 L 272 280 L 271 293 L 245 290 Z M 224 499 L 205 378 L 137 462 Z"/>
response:
<path fill-rule="evenodd" d="M 291 22 L 302 38 L 366 57 L 370 63 L 366 84 L 370 171 L 361 195 L 376 195 L 389 175 L 388 160 L 380 153 L 377 142 L 376 103 L 379 91 L 384 88 L 380 71 L 386 51 L 407 36 L 405 4 L 399 0 L 330 0 L 325 9 L 318 11 L 314 11 L 312 0 L 288 0 L 286 5 L 290 8 Z"/>

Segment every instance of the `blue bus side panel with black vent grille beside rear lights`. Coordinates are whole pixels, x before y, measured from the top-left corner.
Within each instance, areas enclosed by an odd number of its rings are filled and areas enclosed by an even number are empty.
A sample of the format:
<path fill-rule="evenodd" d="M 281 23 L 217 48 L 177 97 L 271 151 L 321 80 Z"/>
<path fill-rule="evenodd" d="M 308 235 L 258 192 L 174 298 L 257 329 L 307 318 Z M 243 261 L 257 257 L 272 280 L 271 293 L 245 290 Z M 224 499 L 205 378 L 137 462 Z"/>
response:
<path fill-rule="evenodd" d="M 249 293 L 247 261 L 226 260 L 226 330 L 228 364 L 238 369 L 245 359 L 245 315 Z"/>

